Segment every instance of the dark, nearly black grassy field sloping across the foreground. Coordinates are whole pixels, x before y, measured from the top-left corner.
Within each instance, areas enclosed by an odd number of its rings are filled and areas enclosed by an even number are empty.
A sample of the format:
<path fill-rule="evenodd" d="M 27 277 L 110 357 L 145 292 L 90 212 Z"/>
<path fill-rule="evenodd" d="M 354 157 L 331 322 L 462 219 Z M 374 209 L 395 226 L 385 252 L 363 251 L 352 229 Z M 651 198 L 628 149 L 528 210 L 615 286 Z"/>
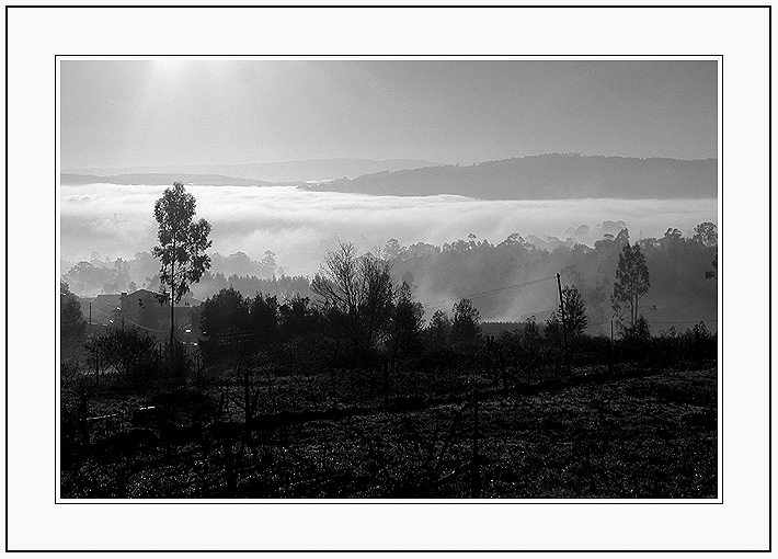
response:
<path fill-rule="evenodd" d="M 220 421 L 93 435 L 87 454 L 64 450 L 61 497 L 717 497 L 716 369 L 632 370 L 512 392 L 469 381 L 482 390 L 477 407 L 467 397 L 409 397 L 260 409 L 250 434 Z"/>

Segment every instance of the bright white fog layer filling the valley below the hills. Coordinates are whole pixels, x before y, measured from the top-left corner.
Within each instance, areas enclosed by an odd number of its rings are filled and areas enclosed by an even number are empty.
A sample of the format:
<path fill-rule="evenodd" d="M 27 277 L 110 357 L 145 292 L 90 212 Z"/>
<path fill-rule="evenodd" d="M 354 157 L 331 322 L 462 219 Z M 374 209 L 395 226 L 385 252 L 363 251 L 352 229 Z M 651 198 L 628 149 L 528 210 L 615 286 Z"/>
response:
<path fill-rule="evenodd" d="M 60 190 L 61 260 L 93 252 L 131 259 L 156 244 L 153 203 L 163 187 L 90 184 Z M 479 201 L 464 196 L 369 196 L 295 187 L 188 186 L 197 216 L 213 227 L 213 250 L 261 260 L 266 250 L 286 274 L 310 275 L 339 240 L 361 250 L 393 238 L 401 244 L 443 244 L 466 239 L 499 243 L 518 232 L 528 238 L 573 238 L 593 246 L 623 221 L 630 238 L 661 237 L 668 227 L 690 236 L 702 221 L 717 223 L 716 199 Z M 600 224 L 599 226 L 597 224 Z M 584 226 L 584 227 L 581 227 Z M 611 226 L 613 228 L 613 226 Z M 65 270 L 62 271 L 65 272 Z"/>

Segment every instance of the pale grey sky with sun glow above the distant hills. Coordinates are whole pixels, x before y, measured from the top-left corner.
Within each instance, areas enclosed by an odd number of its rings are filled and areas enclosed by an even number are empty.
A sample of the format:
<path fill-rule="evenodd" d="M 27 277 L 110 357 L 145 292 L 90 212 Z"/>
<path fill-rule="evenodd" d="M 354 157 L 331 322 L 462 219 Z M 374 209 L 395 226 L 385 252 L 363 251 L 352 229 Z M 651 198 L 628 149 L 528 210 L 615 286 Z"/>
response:
<path fill-rule="evenodd" d="M 716 158 L 717 62 L 62 60 L 60 168 Z"/>

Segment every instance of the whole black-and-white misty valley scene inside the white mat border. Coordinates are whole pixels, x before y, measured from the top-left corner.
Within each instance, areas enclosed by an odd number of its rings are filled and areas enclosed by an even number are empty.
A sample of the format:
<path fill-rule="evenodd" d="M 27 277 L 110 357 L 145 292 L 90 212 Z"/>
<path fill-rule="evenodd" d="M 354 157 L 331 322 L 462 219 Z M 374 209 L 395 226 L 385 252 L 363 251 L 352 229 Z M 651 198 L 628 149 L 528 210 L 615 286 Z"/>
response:
<path fill-rule="evenodd" d="M 65 499 L 716 499 L 719 60 L 64 59 Z"/>

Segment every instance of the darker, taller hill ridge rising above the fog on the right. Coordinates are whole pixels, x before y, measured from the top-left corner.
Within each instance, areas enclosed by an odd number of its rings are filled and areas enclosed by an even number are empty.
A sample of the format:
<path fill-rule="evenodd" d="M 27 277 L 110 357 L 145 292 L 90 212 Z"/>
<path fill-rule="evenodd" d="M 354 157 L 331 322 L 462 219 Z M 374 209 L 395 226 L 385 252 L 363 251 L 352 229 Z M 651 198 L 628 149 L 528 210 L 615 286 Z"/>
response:
<path fill-rule="evenodd" d="M 380 172 L 307 186 L 373 195 L 483 199 L 716 198 L 718 161 L 551 153 Z"/>

